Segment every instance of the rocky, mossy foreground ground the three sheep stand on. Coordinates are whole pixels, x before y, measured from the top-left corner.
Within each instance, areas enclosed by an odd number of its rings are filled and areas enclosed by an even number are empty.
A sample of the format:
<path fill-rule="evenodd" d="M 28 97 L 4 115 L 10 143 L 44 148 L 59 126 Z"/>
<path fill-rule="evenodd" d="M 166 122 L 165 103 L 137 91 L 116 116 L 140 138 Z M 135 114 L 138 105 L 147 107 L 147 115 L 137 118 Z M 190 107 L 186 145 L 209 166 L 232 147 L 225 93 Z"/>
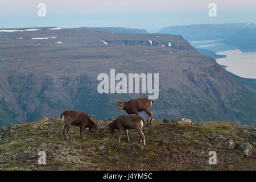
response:
<path fill-rule="evenodd" d="M 112 120 L 96 121 L 102 127 Z M 146 146 L 131 130 L 118 144 L 118 133 L 86 133 L 71 127 L 70 140 L 62 139 L 63 122 L 44 118 L 25 125 L 10 125 L 0 133 L 1 170 L 255 170 L 256 129 L 240 123 L 193 123 L 188 118 L 154 121 L 144 126 Z M 39 165 L 39 151 L 46 164 Z M 217 164 L 208 163 L 209 151 Z"/>

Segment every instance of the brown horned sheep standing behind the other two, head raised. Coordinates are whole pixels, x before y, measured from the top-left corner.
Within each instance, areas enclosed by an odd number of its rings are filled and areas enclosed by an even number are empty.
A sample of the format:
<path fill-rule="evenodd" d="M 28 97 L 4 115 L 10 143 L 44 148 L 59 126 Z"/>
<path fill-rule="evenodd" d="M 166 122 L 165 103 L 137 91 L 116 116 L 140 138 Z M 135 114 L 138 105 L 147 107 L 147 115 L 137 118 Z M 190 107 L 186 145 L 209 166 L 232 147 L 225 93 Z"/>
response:
<path fill-rule="evenodd" d="M 152 125 L 153 113 L 150 111 L 150 107 L 152 106 L 152 103 L 154 103 L 152 100 L 149 100 L 146 97 L 132 99 L 128 102 L 123 102 L 122 100 L 125 99 L 121 98 L 118 102 L 117 100 L 115 100 L 115 104 L 117 104 L 120 112 L 123 109 L 126 111 L 127 114 L 139 115 L 139 112 L 146 111 L 146 113 L 149 115 L 147 123 L 150 122 L 150 124 Z"/>

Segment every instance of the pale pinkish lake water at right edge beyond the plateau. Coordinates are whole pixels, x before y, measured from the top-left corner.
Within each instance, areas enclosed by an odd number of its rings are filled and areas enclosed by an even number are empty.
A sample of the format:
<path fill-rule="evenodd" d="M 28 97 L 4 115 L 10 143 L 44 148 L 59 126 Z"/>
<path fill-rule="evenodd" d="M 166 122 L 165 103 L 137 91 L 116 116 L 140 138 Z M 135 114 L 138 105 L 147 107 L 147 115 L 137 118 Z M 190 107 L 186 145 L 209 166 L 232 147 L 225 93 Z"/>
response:
<path fill-rule="evenodd" d="M 216 61 L 220 65 L 225 65 L 227 71 L 244 78 L 256 78 L 256 52 L 241 52 L 235 49 L 216 53 L 226 55 Z"/>

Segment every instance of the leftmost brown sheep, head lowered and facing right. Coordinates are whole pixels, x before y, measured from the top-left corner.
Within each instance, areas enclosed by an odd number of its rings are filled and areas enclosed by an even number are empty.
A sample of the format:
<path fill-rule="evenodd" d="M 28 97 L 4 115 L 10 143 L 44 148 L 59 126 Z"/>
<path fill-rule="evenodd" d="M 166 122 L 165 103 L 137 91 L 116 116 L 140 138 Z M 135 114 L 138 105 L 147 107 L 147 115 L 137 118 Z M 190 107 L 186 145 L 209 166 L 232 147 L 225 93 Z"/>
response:
<path fill-rule="evenodd" d="M 68 130 L 71 125 L 80 127 L 80 138 L 82 138 L 82 131 L 83 131 L 84 139 L 85 139 L 86 127 L 89 127 L 90 131 L 94 131 L 94 132 L 101 131 L 101 127 L 98 127 L 92 121 L 92 119 L 90 119 L 89 115 L 77 110 L 66 110 L 61 114 L 60 118 L 64 122 L 63 139 L 65 139 L 65 135 L 67 135 L 67 139 L 69 140 Z"/>

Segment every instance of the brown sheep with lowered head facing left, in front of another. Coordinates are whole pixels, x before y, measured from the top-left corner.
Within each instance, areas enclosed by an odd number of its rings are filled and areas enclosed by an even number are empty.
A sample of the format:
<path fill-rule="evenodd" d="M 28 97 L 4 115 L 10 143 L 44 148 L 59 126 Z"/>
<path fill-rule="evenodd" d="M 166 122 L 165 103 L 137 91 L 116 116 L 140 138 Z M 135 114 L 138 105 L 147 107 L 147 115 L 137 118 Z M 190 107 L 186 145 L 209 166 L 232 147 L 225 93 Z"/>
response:
<path fill-rule="evenodd" d="M 128 130 L 135 129 L 141 135 L 141 138 L 139 139 L 139 143 L 141 143 L 143 139 L 143 144 L 146 145 L 145 136 L 142 133 L 143 124 L 144 124 L 144 120 L 141 117 L 139 117 L 138 115 L 130 114 L 130 115 L 120 115 L 117 119 L 115 119 L 115 121 L 110 123 L 108 127 L 111 133 L 114 133 L 114 129 L 119 130 L 119 139 L 118 139 L 119 143 L 121 140 L 121 135 L 123 130 L 125 130 L 128 141 L 130 141 L 130 138 L 128 136 Z"/>

